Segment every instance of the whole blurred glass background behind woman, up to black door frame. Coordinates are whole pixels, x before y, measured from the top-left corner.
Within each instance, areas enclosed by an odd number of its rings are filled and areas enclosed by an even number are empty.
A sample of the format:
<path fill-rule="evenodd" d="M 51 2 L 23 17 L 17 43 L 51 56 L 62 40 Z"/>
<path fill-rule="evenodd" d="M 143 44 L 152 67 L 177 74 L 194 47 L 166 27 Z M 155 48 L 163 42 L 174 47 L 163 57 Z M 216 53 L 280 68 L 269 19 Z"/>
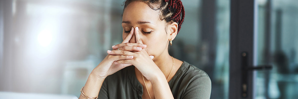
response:
<path fill-rule="evenodd" d="M 0 91 L 78 97 L 106 51 L 122 42 L 123 1 L 2 0 Z M 182 3 L 185 20 L 169 53 L 207 72 L 212 99 L 227 99 L 230 1 Z"/>

